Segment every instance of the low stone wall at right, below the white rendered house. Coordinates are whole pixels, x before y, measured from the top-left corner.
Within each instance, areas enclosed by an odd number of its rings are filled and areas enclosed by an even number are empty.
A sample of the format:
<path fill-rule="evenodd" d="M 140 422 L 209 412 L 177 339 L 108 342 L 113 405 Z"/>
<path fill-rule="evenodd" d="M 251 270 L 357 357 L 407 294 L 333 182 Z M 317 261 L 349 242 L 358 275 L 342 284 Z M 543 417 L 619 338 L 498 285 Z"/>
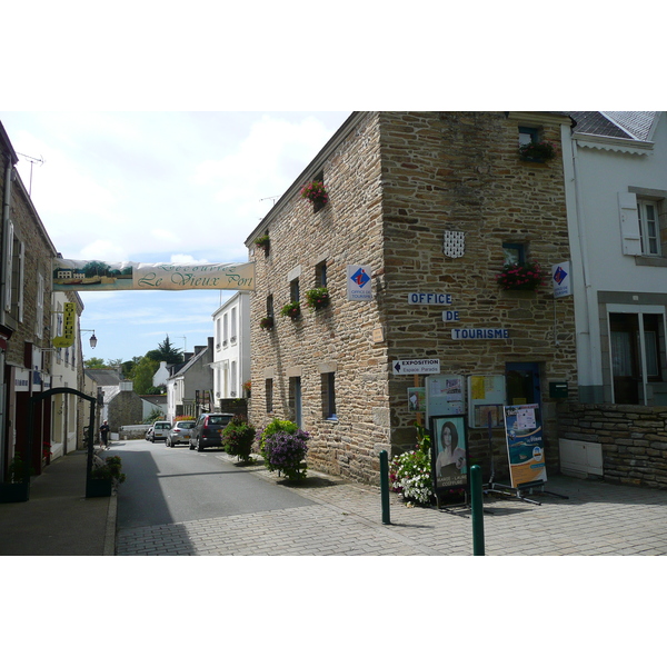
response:
<path fill-rule="evenodd" d="M 565 404 L 561 438 L 599 442 L 607 481 L 667 488 L 667 407 Z"/>

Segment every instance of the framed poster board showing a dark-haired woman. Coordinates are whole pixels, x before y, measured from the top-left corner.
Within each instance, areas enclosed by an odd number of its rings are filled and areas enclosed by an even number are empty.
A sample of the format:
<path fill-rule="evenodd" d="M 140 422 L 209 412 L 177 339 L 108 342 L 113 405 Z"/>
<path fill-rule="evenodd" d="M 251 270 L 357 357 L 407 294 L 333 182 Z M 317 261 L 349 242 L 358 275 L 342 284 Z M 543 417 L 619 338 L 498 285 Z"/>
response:
<path fill-rule="evenodd" d="M 465 417 L 431 417 L 430 435 L 436 490 L 467 487 L 468 444 Z"/>

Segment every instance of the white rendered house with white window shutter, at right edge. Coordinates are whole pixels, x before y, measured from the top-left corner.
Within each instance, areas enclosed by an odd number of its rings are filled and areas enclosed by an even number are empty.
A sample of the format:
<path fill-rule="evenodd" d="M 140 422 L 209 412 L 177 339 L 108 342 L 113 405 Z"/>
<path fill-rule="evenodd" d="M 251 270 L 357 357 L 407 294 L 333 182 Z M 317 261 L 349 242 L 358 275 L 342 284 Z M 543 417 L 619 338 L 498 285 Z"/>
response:
<path fill-rule="evenodd" d="M 667 405 L 667 117 L 571 112 L 579 400 Z"/>

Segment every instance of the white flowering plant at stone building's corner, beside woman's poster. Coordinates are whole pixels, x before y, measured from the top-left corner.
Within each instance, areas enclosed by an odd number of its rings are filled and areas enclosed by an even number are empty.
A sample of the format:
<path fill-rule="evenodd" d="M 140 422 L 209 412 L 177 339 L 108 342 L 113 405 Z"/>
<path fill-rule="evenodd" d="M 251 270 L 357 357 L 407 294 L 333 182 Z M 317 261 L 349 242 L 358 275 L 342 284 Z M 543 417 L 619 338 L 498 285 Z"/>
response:
<path fill-rule="evenodd" d="M 418 447 L 394 457 L 389 464 L 389 485 L 404 500 L 430 505 L 434 498 L 430 438 L 417 426 Z"/>

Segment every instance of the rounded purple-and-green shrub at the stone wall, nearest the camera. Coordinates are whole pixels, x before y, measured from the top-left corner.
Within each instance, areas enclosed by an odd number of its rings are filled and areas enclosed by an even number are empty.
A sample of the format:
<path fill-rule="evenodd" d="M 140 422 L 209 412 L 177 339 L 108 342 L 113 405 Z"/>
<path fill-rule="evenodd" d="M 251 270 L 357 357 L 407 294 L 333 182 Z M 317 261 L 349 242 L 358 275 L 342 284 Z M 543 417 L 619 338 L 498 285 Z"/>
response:
<path fill-rule="evenodd" d="M 260 434 L 260 452 L 266 467 L 290 480 L 306 477 L 307 440 L 310 435 L 293 421 L 273 419 Z"/>

